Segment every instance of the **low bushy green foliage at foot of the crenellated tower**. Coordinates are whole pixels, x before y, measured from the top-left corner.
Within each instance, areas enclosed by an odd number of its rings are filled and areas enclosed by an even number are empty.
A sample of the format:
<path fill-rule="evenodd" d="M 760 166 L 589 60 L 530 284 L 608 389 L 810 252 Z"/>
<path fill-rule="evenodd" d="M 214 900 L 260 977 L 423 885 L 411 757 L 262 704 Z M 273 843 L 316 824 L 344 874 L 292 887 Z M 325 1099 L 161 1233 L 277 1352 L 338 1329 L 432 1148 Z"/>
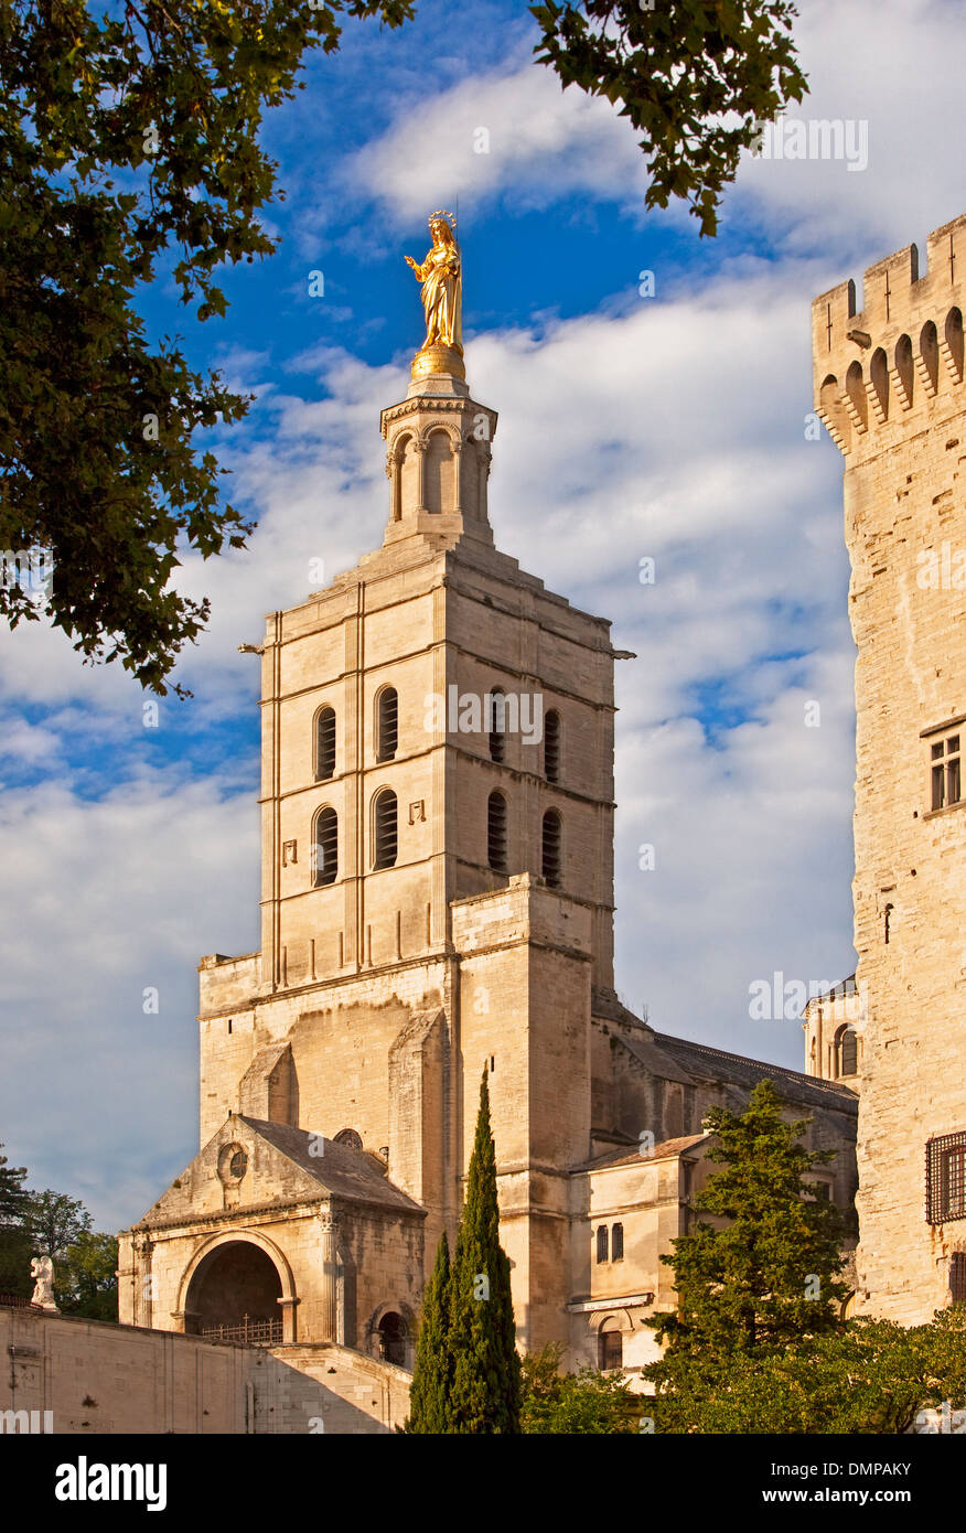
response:
<path fill-rule="evenodd" d="M 693 1360 L 692 1360 L 693 1361 Z M 849 1320 L 797 1344 L 733 1354 L 727 1367 L 679 1374 L 649 1403 L 658 1432 L 897 1433 L 923 1430 L 920 1412 L 949 1404 L 966 1423 L 966 1306 L 929 1325 Z M 952 1412 L 963 1412 L 952 1423 Z"/>

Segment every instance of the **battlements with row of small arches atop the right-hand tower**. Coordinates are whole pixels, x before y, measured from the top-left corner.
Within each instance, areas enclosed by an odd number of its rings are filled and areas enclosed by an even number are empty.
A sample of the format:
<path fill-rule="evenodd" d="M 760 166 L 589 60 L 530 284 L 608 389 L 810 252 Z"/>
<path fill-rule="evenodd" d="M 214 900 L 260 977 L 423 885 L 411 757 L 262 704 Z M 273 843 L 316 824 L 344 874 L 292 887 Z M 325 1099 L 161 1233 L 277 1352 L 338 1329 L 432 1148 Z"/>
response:
<path fill-rule="evenodd" d="M 877 261 L 863 277 L 862 310 L 851 279 L 813 300 L 814 408 L 845 454 L 889 414 L 903 419 L 917 394 L 961 382 L 966 215 L 929 235 L 926 261 L 922 276 L 915 245 Z M 929 325 L 935 356 L 923 336 Z"/>

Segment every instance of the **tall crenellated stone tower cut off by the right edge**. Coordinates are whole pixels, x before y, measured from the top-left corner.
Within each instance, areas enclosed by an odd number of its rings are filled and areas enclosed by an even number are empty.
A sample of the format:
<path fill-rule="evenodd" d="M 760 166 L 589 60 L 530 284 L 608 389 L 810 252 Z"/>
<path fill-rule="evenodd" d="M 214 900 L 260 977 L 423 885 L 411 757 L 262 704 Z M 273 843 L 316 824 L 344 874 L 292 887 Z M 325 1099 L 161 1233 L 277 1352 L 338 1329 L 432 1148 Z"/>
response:
<path fill-rule="evenodd" d="M 966 1297 L 966 216 L 813 304 L 845 460 L 863 995 L 859 1308 Z"/>

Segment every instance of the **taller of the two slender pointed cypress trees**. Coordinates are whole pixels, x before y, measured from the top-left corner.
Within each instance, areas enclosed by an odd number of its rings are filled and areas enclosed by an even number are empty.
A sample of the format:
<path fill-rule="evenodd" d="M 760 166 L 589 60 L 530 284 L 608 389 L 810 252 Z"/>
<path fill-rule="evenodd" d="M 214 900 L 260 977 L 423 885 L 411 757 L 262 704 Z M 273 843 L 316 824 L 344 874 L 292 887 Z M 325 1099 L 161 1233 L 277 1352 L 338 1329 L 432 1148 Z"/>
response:
<path fill-rule="evenodd" d="M 520 1432 L 520 1357 L 511 1266 L 500 1245 L 497 1153 L 486 1072 L 449 1283 L 448 1432 Z"/>

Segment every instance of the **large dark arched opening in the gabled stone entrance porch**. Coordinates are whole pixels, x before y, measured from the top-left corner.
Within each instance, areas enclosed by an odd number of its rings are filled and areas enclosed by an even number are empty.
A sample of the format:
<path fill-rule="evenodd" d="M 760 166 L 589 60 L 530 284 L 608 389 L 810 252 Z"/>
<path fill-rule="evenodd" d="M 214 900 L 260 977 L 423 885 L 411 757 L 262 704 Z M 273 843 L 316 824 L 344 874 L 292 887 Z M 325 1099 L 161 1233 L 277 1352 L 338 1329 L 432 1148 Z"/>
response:
<path fill-rule="evenodd" d="M 267 1251 L 251 1240 L 218 1245 L 189 1283 L 186 1329 L 219 1341 L 278 1346 L 282 1341 L 282 1282 Z"/>

